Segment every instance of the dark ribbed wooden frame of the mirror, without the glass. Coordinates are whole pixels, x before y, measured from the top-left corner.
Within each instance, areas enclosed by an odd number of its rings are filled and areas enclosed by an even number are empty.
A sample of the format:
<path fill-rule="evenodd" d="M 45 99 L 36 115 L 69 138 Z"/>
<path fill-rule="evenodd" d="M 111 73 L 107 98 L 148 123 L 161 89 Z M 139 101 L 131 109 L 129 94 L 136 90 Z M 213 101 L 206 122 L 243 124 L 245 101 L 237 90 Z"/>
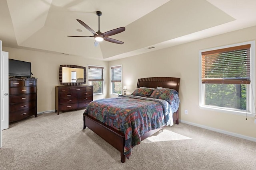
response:
<path fill-rule="evenodd" d="M 62 83 L 62 67 L 83 68 L 84 69 L 84 82 Z M 65 86 L 77 86 L 77 85 L 85 84 L 86 83 L 86 68 L 83 66 L 76 66 L 76 65 L 60 65 L 59 80 L 60 80 L 60 84 L 65 85 Z"/>

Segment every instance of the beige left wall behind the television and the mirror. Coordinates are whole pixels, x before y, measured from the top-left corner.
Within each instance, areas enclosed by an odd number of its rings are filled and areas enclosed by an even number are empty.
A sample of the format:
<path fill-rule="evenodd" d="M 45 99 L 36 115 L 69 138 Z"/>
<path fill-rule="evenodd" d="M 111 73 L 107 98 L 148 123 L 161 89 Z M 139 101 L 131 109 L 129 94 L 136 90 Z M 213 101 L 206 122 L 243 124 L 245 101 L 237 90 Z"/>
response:
<path fill-rule="evenodd" d="M 60 65 L 72 64 L 87 68 L 87 64 L 91 64 L 108 68 L 106 61 L 84 59 L 72 55 L 58 55 L 9 47 L 3 47 L 3 51 L 9 53 L 10 59 L 31 62 L 31 72 L 34 77 L 38 78 L 37 112 L 55 110 L 55 86 L 60 85 L 58 77 Z M 104 69 L 104 81 L 108 82 L 107 69 Z M 94 95 L 94 100 L 107 98 L 107 83 L 104 83 L 104 92 L 104 95 Z"/>

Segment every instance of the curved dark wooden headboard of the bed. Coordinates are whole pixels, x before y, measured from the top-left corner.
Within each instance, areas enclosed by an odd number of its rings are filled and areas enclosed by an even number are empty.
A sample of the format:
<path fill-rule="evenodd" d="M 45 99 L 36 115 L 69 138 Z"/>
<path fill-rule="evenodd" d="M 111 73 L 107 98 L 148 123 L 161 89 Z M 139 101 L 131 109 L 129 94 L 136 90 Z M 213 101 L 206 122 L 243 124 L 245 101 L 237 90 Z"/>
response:
<path fill-rule="evenodd" d="M 180 78 L 175 77 L 148 77 L 148 78 L 139 78 L 137 83 L 137 88 L 140 87 L 163 87 L 163 88 L 172 88 L 179 92 L 180 88 Z"/>

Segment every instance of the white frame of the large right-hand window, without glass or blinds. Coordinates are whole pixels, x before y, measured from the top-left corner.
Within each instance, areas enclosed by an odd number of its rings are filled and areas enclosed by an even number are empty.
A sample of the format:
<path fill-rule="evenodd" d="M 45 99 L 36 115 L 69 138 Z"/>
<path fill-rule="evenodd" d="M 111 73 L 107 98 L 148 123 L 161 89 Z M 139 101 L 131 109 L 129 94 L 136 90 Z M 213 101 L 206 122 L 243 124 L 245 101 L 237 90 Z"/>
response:
<path fill-rule="evenodd" d="M 205 88 L 204 84 L 202 83 L 202 53 L 206 51 L 224 49 L 229 47 L 236 47 L 240 45 L 250 44 L 250 84 L 247 84 L 247 95 L 246 95 L 246 104 L 247 109 L 246 111 L 240 109 L 232 109 L 227 107 L 218 107 L 218 106 L 208 106 L 204 105 L 204 93 Z M 236 43 L 232 45 L 226 45 L 211 49 L 204 49 L 199 51 L 199 107 L 200 109 L 206 109 L 211 111 L 218 111 L 223 113 L 231 113 L 236 115 L 248 115 L 249 117 L 255 116 L 255 41 L 247 41 L 243 43 Z"/>

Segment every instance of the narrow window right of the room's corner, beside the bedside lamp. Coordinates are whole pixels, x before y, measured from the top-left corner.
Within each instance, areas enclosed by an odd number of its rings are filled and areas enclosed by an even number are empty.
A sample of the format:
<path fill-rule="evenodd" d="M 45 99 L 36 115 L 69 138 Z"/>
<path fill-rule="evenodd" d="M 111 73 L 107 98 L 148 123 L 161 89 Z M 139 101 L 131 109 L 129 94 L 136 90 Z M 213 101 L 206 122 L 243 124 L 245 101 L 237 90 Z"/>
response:
<path fill-rule="evenodd" d="M 122 94 L 122 66 L 111 67 L 112 94 Z"/>

